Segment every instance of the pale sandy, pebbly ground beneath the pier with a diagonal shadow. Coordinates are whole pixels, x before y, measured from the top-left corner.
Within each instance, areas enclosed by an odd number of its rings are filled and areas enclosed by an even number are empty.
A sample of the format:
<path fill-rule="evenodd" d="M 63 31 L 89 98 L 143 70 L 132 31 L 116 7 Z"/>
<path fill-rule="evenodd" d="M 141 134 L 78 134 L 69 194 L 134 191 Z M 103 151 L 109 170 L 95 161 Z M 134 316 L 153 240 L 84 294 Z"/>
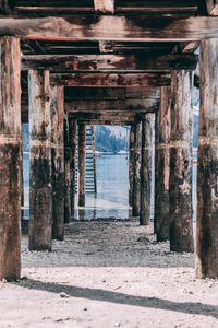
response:
<path fill-rule="evenodd" d="M 74 222 L 50 254 L 24 237 L 22 260 L 0 284 L 0 328 L 218 327 L 218 281 L 137 222 Z"/>

